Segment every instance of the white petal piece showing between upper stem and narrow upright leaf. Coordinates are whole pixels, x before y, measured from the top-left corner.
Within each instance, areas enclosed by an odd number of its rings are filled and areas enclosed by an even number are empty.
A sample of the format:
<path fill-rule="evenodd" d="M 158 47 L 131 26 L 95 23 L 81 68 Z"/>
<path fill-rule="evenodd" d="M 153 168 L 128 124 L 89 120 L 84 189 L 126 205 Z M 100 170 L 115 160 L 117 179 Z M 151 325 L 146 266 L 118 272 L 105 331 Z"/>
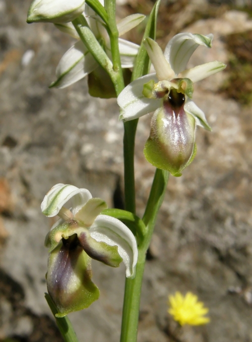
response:
<path fill-rule="evenodd" d="M 119 38 L 119 52 L 122 68 L 133 68 L 139 45 Z"/>

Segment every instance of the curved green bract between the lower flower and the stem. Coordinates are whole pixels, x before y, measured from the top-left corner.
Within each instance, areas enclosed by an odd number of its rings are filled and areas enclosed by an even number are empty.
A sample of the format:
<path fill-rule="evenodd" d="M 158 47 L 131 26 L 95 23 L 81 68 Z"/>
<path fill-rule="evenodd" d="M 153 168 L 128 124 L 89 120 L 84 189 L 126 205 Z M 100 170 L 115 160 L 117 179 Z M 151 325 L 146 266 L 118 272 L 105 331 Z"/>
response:
<path fill-rule="evenodd" d="M 141 244 L 146 234 L 146 226 L 141 218 L 130 211 L 121 209 L 105 209 L 102 214 L 115 217 L 127 225 L 136 236 L 138 244 Z"/>

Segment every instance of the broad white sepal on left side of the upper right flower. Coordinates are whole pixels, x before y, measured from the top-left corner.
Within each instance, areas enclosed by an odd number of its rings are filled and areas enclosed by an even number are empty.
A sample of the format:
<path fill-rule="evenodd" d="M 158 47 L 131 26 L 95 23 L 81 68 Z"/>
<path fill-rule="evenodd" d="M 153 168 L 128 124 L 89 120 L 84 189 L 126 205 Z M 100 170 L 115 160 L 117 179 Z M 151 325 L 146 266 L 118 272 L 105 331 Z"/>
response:
<path fill-rule="evenodd" d="M 137 119 L 161 106 L 161 99 L 150 99 L 143 95 L 144 84 L 150 80 L 158 82 L 155 74 L 145 75 L 122 90 L 117 97 L 117 103 L 122 109 L 120 119 Z"/>

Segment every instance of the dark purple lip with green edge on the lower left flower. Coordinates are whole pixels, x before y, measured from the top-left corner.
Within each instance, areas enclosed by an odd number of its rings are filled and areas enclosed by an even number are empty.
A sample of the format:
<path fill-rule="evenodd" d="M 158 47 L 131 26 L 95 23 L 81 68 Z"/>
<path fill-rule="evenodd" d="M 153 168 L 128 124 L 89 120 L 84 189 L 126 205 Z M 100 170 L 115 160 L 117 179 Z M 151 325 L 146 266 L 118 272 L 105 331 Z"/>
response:
<path fill-rule="evenodd" d="M 88 307 L 99 291 L 91 281 L 91 259 L 83 251 L 77 235 L 62 239 L 49 255 L 47 289 L 59 314 Z M 91 300 L 92 299 L 92 300 Z"/>

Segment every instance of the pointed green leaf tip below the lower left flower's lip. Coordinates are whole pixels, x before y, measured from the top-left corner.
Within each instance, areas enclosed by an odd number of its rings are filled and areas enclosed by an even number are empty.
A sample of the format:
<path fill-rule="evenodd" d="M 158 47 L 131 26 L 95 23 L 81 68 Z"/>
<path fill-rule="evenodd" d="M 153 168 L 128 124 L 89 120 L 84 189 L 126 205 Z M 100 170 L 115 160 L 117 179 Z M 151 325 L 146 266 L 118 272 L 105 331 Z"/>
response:
<path fill-rule="evenodd" d="M 57 327 L 62 335 L 62 337 L 64 338 L 64 341 L 65 342 L 79 342 L 78 341 L 78 338 L 76 336 L 76 333 L 74 331 L 74 328 L 70 322 L 70 320 L 68 319 L 67 316 L 65 317 L 62 317 L 62 318 L 58 318 L 58 317 L 55 317 L 55 314 L 58 313 L 57 312 L 57 309 L 55 307 L 55 305 L 53 304 L 50 296 L 45 293 L 45 299 L 51 309 L 51 312 L 56 320 L 56 324 L 57 324 Z"/>

